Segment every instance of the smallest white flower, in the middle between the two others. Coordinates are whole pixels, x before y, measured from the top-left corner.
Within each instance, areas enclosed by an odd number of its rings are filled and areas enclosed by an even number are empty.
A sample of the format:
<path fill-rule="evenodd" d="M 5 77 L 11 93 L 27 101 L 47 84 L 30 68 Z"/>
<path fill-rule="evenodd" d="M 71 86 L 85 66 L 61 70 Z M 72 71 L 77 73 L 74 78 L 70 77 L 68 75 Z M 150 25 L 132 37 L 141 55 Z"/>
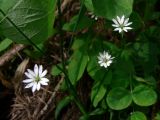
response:
<path fill-rule="evenodd" d="M 98 63 L 100 64 L 100 66 L 107 68 L 113 62 L 113 58 L 114 57 L 111 57 L 108 52 L 104 51 L 103 53 L 99 53 Z"/>

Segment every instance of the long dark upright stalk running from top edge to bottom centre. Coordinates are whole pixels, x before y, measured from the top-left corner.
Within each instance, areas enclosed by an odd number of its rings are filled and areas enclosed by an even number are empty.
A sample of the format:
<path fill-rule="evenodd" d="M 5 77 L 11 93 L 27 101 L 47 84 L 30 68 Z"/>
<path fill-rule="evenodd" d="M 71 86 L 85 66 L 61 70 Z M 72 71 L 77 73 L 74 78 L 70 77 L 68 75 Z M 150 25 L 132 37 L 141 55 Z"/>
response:
<path fill-rule="evenodd" d="M 57 6 L 58 6 L 58 18 L 59 18 L 59 32 L 60 34 L 63 36 L 63 31 L 62 31 L 62 22 L 61 22 L 61 17 L 62 17 L 62 13 L 61 13 L 61 2 L 60 0 L 57 1 Z M 64 41 L 63 39 L 61 39 L 61 59 L 62 59 L 62 69 L 57 66 L 58 69 L 62 70 L 62 72 L 64 73 L 65 75 L 65 82 L 66 82 L 66 85 L 67 85 L 67 88 L 68 88 L 68 91 L 69 93 L 73 96 L 73 100 L 74 102 L 76 103 L 76 105 L 78 106 L 78 108 L 80 109 L 80 111 L 82 112 L 83 115 L 87 116 L 87 112 L 85 111 L 84 109 L 84 106 L 83 104 L 81 103 L 81 101 L 79 100 L 78 98 L 78 94 L 74 88 L 74 86 L 72 85 L 69 77 L 68 77 L 68 74 L 67 74 L 67 69 L 65 67 L 65 59 L 64 59 L 64 56 L 63 56 L 63 53 L 64 53 L 64 50 L 63 50 L 63 44 L 64 44 Z"/>

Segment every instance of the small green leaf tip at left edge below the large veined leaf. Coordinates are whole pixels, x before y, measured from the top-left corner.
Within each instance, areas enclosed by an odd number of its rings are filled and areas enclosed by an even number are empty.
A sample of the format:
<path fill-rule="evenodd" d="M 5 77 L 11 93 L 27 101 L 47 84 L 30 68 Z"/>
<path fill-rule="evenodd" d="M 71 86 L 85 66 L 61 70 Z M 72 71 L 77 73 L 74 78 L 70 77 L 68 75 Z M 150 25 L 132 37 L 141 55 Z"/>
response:
<path fill-rule="evenodd" d="M 8 38 L 0 42 L 0 52 L 7 49 L 12 44 L 12 41 Z"/>

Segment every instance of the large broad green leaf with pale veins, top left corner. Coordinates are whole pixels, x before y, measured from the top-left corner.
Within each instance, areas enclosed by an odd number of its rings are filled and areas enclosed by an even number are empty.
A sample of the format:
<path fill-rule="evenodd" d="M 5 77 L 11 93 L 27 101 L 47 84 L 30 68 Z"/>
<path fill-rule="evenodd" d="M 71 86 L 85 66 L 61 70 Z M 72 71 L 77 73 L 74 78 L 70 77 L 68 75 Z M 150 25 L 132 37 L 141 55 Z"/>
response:
<path fill-rule="evenodd" d="M 6 16 L 33 43 L 38 44 L 53 34 L 54 10 L 57 0 L 2 0 L 0 8 Z M 0 13 L 0 29 L 3 35 L 22 44 L 31 44 L 17 29 Z"/>

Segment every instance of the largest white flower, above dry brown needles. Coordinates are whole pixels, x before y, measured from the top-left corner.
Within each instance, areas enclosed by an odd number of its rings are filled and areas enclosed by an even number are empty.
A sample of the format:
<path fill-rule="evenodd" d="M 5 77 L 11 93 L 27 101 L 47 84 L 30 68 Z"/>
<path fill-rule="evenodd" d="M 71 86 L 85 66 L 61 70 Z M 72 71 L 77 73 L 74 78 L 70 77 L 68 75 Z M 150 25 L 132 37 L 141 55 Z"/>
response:
<path fill-rule="evenodd" d="M 36 90 L 40 90 L 41 85 L 48 85 L 49 80 L 45 77 L 47 74 L 47 70 L 43 71 L 42 65 L 34 65 L 34 70 L 27 69 L 25 75 L 27 79 L 23 80 L 23 83 L 27 85 L 25 88 L 32 88 L 32 92 L 34 93 Z"/>

